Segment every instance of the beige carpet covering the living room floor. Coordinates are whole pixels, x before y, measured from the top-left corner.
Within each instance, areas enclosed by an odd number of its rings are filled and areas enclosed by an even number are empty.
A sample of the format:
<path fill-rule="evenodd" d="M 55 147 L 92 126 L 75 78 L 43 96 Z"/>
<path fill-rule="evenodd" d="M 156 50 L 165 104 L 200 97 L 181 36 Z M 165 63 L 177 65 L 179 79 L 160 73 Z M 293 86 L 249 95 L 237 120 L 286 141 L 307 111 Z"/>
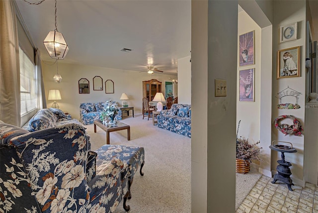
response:
<path fill-rule="evenodd" d="M 154 126 L 152 118 L 142 118 L 137 114 L 121 120 L 130 125 L 130 141 L 127 130 L 110 132 L 110 144 L 145 148 L 145 175 L 134 176 L 132 199 L 127 202 L 130 212 L 191 213 L 191 138 Z M 93 124 L 85 127 L 91 136 L 91 150 L 106 143 L 106 133 L 98 126 L 96 133 Z M 237 174 L 236 209 L 257 182 L 258 175 L 254 171 Z M 122 202 L 116 213 L 125 213 Z"/>

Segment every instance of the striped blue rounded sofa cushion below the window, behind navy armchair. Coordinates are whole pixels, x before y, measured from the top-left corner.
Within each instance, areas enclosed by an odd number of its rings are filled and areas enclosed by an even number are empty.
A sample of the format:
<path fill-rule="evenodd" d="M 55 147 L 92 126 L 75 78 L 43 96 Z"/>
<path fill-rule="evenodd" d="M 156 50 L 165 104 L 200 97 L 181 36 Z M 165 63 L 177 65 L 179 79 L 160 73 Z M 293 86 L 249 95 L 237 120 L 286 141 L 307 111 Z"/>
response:
<path fill-rule="evenodd" d="M 56 126 L 57 116 L 48 108 L 39 110 L 30 120 L 30 131 L 37 131 Z"/>

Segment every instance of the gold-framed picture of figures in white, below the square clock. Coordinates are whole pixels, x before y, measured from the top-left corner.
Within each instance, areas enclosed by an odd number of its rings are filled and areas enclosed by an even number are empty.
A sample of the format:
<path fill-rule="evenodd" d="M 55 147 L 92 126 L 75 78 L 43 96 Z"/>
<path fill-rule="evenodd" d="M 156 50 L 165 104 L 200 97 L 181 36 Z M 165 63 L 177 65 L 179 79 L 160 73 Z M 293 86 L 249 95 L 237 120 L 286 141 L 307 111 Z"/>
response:
<path fill-rule="evenodd" d="M 277 79 L 300 77 L 300 46 L 278 50 Z"/>

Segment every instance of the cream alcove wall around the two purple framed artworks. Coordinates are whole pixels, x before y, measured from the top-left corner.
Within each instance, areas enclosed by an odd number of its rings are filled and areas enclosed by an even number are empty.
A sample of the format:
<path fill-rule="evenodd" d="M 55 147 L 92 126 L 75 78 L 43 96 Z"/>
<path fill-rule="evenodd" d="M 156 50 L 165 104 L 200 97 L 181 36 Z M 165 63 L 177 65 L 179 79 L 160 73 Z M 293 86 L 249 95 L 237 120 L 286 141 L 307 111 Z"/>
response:
<path fill-rule="evenodd" d="M 239 67 L 238 54 L 238 83 L 237 83 L 237 123 L 239 120 L 239 135 L 248 138 L 250 143 L 255 143 L 260 140 L 260 76 L 261 72 L 261 28 L 253 19 L 245 12 L 239 12 L 238 35 L 254 31 L 254 64 Z M 238 36 L 238 51 L 239 51 L 239 36 Z M 239 101 L 239 71 L 254 68 L 254 102 Z"/>

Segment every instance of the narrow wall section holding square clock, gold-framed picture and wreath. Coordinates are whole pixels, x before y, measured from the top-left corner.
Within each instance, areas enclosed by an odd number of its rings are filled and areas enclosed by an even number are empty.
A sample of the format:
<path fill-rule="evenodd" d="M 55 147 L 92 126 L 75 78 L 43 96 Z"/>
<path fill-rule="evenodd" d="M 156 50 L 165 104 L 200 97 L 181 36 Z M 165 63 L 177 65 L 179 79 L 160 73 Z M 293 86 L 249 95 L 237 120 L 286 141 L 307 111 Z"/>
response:
<path fill-rule="evenodd" d="M 288 8 L 288 9 L 282 9 Z M 305 94 L 306 94 L 306 68 L 305 68 L 305 55 L 306 55 L 306 1 L 274 1 L 274 23 L 273 23 L 273 58 L 277 55 L 278 50 L 301 46 L 300 48 L 300 77 L 276 79 L 277 76 L 277 59 L 273 60 L 273 92 L 272 92 L 272 120 L 283 114 L 294 115 L 300 120 L 303 127 L 305 126 Z M 297 40 L 279 43 L 280 26 L 289 23 L 297 22 Z M 275 98 L 276 94 L 280 91 L 290 87 L 300 93 L 298 104 L 301 106 L 299 109 L 278 109 L 279 99 Z M 295 104 L 295 103 L 293 103 Z M 293 124 L 290 119 L 284 119 L 281 123 Z M 272 125 L 272 140 L 288 141 L 298 150 L 297 153 L 285 154 L 286 160 L 292 164 L 292 180 L 299 186 L 304 186 L 304 135 L 286 135 L 277 130 Z M 279 160 L 280 153 L 272 151 L 272 171 L 276 173 L 277 160 Z"/>

